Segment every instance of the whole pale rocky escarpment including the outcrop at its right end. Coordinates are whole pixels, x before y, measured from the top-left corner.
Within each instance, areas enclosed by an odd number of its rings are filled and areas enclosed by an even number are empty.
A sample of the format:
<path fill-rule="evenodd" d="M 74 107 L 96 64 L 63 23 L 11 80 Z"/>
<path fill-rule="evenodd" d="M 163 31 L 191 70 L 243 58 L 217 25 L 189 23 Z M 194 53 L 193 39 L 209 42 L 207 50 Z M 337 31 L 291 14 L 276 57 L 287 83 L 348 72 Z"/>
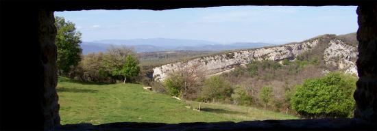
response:
<path fill-rule="evenodd" d="M 317 48 L 319 45 L 326 46 L 326 49 L 324 50 L 324 62 L 326 64 L 335 66 L 345 72 L 356 74 L 356 47 L 343 41 L 344 40 L 338 39 L 335 35 L 321 35 L 317 38 L 312 38 L 311 40 L 299 43 L 250 50 L 237 50 L 231 53 L 201 57 L 190 61 L 169 63 L 164 66 L 156 67 L 154 68 L 153 76 L 155 81 L 164 81 L 169 72 L 193 65 L 201 66 L 206 75 L 211 75 L 225 72 L 234 68 L 234 66 L 247 64 L 252 61 L 295 60 L 297 55 L 312 50 L 313 48 Z"/>

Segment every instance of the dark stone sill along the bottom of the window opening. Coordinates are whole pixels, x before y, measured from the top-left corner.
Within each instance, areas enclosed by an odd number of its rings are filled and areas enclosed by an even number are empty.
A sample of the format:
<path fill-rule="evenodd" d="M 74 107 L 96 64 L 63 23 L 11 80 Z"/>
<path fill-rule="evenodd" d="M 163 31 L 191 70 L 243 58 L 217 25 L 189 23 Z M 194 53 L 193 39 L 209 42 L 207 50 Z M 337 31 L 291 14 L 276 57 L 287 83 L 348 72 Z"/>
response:
<path fill-rule="evenodd" d="M 222 122 L 194 122 L 194 123 L 138 123 L 138 122 L 117 122 L 93 125 L 90 123 L 78 123 L 64 125 L 61 128 L 66 131 L 78 130 L 328 130 L 328 131 L 345 131 L 345 130 L 377 130 L 377 127 L 363 123 L 358 119 L 290 119 L 290 120 L 265 120 L 265 121 L 222 121 Z"/>

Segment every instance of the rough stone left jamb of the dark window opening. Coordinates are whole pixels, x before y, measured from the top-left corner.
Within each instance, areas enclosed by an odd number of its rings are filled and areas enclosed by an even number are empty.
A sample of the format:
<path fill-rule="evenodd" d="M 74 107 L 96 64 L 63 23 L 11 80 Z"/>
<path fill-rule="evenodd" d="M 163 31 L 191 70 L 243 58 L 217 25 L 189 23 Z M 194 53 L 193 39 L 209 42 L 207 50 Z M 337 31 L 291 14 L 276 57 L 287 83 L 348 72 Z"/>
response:
<path fill-rule="evenodd" d="M 57 49 L 55 45 L 56 27 L 52 11 L 38 12 L 38 42 L 40 44 L 40 62 L 43 68 L 42 111 L 45 118 L 45 130 L 60 125 L 58 93 L 58 66 L 56 64 Z"/>

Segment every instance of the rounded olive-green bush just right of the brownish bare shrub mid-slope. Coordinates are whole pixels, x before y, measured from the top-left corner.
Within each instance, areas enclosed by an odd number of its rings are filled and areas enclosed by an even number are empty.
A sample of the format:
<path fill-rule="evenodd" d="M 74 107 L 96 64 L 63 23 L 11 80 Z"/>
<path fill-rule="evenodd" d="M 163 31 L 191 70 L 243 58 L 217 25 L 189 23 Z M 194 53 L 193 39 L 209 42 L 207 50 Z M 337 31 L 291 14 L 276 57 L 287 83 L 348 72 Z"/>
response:
<path fill-rule="evenodd" d="M 200 101 L 222 101 L 230 98 L 232 87 L 225 78 L 221 76 L 212 76 L 204 82 L 203 90 L 200 93 Z"/>

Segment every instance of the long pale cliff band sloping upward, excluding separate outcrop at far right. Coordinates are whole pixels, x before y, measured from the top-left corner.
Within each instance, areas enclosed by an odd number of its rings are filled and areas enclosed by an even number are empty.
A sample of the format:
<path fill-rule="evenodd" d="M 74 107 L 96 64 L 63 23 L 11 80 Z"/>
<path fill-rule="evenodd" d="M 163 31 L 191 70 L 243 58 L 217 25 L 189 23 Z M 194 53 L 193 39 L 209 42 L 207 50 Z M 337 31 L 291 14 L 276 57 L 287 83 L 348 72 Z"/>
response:
<path fill-rule="evenodd" d="M 268 48 L 256 48 L 251 50 L 239 50 L 232 53 L 214 55 L 192 59 L 191 61 L 169 63 L 164 66 L 154 68 L 155 81 L 164 81 L 167 73 L 179 68 L 185 68 L 199 64 L 205 75 L 216 74 L 234 68 L 234 66 L 250 63 L 251 61 L 260 61 L 269 59 L 280 61 L 282 59 L 295 59 L 297 55 L 304 53 L 306 50 L 317 46 L 319 40 L 311 40 L 297 44 L 285 44 L 282 46 L 273 46 Z"/>

